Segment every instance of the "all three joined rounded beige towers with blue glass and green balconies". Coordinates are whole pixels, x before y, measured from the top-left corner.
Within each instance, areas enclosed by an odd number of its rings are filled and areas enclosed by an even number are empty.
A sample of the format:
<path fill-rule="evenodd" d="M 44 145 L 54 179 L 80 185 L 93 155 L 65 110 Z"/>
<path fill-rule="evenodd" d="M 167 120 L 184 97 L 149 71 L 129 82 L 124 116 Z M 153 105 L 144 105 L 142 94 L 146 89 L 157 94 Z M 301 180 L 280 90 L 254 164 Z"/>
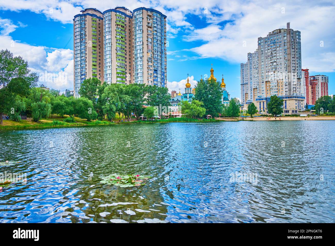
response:
<path fill-rule="evenodd" d="M 88 8 L 74 17 L 74 90 L 97 77 L 107 83 L 166 87 L 166 16 L 150 8 Z"/>

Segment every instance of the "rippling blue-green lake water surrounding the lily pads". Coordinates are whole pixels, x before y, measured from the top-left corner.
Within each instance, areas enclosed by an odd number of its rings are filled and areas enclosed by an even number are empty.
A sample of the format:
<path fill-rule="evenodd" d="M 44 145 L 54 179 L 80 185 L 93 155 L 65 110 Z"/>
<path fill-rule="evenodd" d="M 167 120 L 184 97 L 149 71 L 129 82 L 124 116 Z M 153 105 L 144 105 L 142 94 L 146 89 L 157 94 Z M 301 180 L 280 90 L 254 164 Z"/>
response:
<path fill-rule="evenodd" d="M 0 131 L 0 222 L 335 222 L 335 121 Z M 16 163 L 19 162 L 19 163 Z M 152 176 L 144 186 L 99 183 Z"/>

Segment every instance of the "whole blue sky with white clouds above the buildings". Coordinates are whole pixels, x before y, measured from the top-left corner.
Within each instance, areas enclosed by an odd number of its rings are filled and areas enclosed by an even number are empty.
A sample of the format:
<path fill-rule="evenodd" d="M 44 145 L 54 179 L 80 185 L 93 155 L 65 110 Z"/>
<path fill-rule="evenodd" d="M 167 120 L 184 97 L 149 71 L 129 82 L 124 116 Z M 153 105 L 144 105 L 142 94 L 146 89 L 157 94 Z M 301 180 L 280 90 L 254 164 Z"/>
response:
<path fill-rule="evenodd" d="M 194 87 L 213 64 L 231 96 L 241 97 L 240 63 L 255 51 L 258 37 L 290 22 L 301 31 L 302 67 L 311 75 L 328 75 L 329 94 L 335 94 L 334 1 L 0 0 L 0 49 L 22 56 L 38 75 L 63 75 L 52 81 L 41 77 L 40 83 L 73 90 L 73 16 L 84 8 L 116 6 L 155 8 L 167 15 L 170 91 L 183 91 L 187 74 Z"/>

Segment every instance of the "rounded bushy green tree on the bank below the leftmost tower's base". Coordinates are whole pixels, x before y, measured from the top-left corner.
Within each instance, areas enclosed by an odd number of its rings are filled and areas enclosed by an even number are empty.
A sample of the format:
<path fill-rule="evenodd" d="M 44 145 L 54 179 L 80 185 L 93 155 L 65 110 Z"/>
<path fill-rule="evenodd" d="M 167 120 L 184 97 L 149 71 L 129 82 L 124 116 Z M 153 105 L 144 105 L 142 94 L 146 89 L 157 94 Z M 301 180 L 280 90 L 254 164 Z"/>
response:
<path fill-rule="evenodd" d="M 98 114 L 94 110 L 93 103 L 88 98 L 80 97 L 75 99 L 73 111 L 79 118 L 87 119 L 87 121 L 94 120 Z"/>

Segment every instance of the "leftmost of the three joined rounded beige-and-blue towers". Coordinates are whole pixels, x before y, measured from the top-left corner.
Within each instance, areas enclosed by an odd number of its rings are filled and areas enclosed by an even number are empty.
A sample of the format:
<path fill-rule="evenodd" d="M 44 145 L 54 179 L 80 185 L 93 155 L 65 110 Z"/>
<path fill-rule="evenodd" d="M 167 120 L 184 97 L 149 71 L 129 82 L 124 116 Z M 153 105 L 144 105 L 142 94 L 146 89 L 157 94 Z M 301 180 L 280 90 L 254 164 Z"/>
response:
<path fill-rule="evenodd" d="M 104 27 L 103 13 L 87 8 L 73 19 L 74 96 L 79 96 L 79 88 L 86 78 L 104 80 Z"/>

